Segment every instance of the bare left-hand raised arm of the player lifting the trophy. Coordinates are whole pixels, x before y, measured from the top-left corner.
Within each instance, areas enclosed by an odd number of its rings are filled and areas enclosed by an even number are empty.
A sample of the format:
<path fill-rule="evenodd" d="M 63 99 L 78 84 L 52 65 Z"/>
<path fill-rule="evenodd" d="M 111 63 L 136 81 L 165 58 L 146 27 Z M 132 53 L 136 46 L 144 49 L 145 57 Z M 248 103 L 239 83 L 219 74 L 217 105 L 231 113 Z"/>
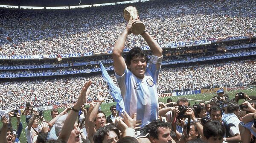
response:
<path fill-rule="evenodd" d="M 131 20 L 128 22 L 125 31 L 122 35 L 117 39 L 115 47 L 113 49 L 113 62 L 114 62 L 114 70 L 117 75 L 122 76 L 125 73 L 125 60 L 122 57 L 123 50 L 125 48 L 125 41 L 127 39 L 128 34 L 131 34 L 132 25 L 138 20 Z"/>

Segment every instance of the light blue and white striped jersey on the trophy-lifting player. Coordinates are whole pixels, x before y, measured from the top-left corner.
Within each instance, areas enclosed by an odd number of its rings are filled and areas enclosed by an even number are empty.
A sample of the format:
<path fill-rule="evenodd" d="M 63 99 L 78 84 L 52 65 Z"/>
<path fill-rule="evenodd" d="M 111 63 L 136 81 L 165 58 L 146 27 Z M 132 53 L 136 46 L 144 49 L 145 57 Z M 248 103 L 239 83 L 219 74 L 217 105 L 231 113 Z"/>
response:
<path fill-rule="evenodd" d="M 130 116 L 137 113 L 137 120 L 142 121 L 142 126 L 158 118 L 156 86 L 158 73 L 156 64 L 150 63 L 146 68 L 144 79 L 138 79 L 128 69 L 125 69 L 122 76 L 116 74 L 125 104 L 125 111 Z"/>

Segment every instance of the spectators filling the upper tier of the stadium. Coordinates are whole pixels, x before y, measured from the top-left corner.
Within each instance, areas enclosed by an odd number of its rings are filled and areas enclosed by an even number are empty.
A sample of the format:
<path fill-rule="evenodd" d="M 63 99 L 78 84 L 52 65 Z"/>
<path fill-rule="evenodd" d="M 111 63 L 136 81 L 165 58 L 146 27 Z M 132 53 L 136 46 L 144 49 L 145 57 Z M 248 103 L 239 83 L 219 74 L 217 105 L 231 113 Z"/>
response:
<path fill-rule="evenodd" d="M 1 8 L 0 53 L 38 55 L 112 50 L 126 25 L 122 17 L 126 6 L 70 10 Z M 146 31 L 160 45 L 172 41 L 252 36 L 256 22 L 253 14 L 256 6 L 250 0 L 161 0 L 135 3 L 134 6 Z M 130 35 L 128 41 L 125 48 L 146 45 L 136 35 Z"/>

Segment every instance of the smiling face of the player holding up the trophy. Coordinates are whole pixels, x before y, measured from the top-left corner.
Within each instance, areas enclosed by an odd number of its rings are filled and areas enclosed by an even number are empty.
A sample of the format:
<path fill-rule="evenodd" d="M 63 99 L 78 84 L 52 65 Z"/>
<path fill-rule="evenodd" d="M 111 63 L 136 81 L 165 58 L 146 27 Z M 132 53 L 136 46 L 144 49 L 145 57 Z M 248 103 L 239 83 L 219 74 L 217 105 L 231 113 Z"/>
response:
<path fill-rule="evenodd" d="M 146 71 L 147 62 L 144 57 L 134 56 L 131 59 L 131 64 L 128 65 L 128 69 L 139 79 L 144 78 L 144 74 Z"/>

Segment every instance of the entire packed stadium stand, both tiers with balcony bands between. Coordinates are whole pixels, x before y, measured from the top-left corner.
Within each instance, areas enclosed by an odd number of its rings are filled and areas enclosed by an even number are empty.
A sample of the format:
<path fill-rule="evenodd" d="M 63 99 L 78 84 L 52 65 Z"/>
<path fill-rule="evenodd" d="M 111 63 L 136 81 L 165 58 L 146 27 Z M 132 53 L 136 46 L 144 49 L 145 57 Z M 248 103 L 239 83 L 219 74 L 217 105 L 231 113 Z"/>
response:
<path fill-rule="evenodd" d="M 256 4 L 250 0 L 0 8 L 0 107 L 73 103 L 88 79 L 93 81 L 88 101 L 97 100 L 97 93 L 107 90 L 99 61 L 116 83 L 112 50 L 126 25 L 122 11 L 130 5 L 163 48 L 158 93 L 211 88 L 193 86 L 209 81 L 226 81 L 227 87 L 256 84 Z M 124 51 L 136 46 L 149 50 L 142 36 L 129 35 Z"/>

